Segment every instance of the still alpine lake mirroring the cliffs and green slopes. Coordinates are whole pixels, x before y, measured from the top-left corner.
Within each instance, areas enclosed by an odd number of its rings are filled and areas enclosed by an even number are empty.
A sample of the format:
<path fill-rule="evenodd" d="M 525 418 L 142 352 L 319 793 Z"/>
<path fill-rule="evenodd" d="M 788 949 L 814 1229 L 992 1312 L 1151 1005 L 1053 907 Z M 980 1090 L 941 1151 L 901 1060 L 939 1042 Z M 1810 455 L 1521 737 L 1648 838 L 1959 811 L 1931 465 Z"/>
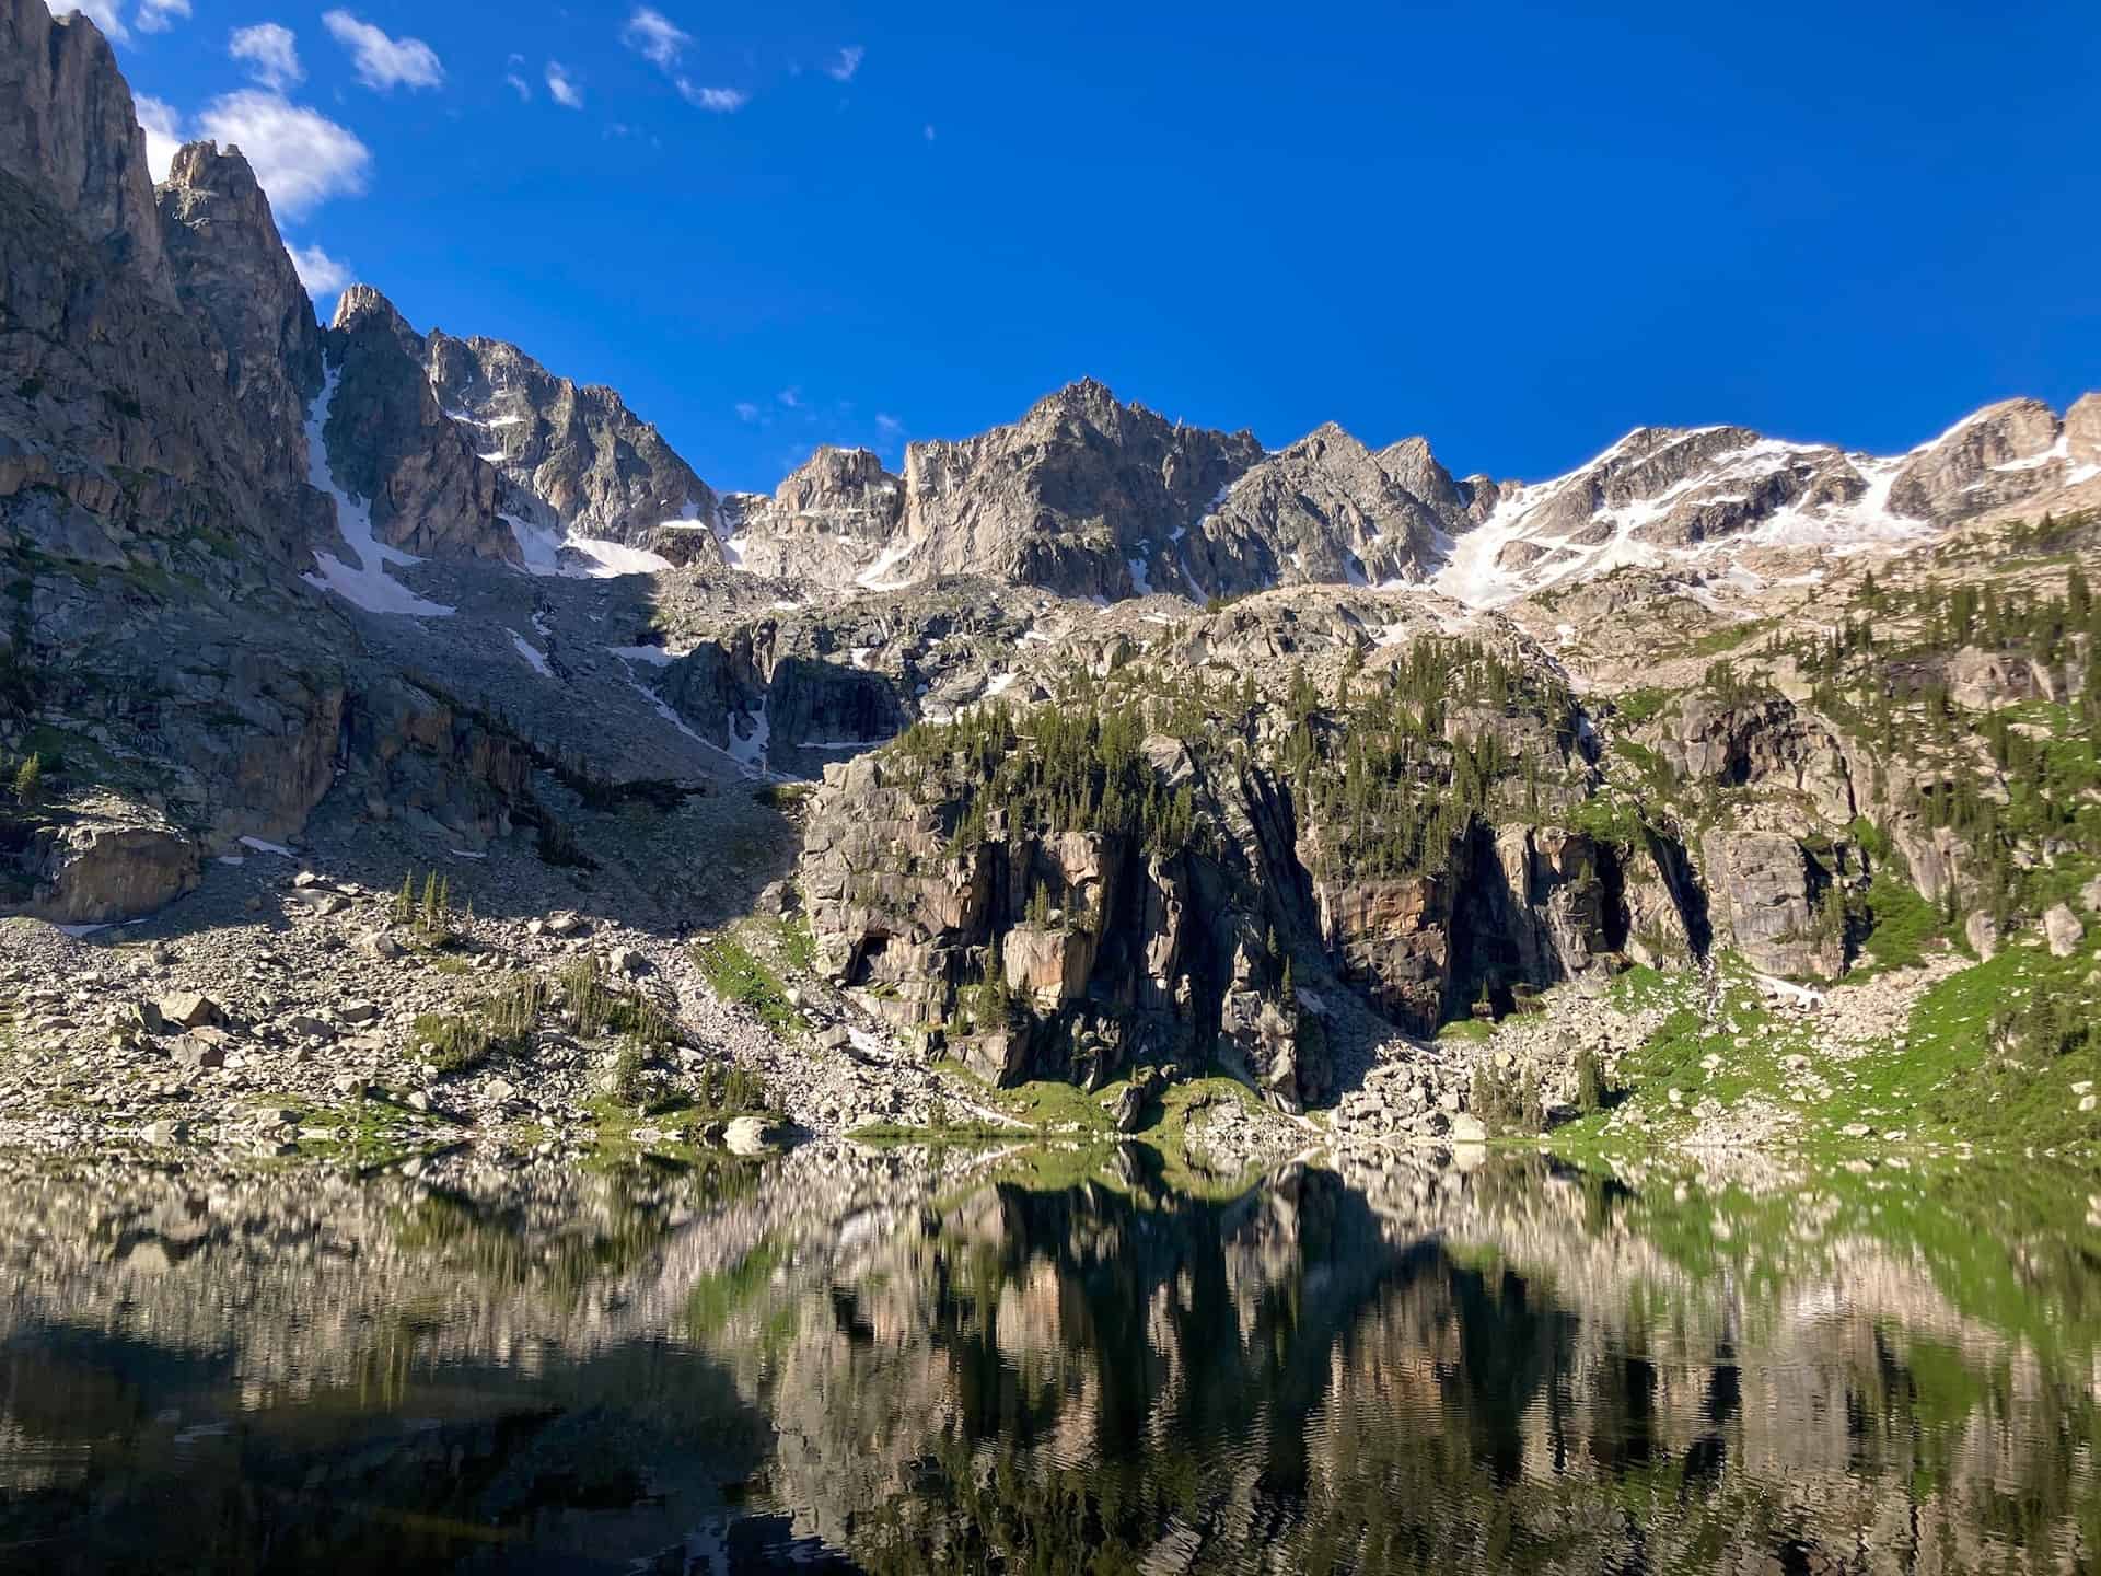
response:
<path fill-rule="evenodd" d="M 15 1173 L 0 1568 L 2101 1557 L 2095 1179 L 1057 1164 Z"/>

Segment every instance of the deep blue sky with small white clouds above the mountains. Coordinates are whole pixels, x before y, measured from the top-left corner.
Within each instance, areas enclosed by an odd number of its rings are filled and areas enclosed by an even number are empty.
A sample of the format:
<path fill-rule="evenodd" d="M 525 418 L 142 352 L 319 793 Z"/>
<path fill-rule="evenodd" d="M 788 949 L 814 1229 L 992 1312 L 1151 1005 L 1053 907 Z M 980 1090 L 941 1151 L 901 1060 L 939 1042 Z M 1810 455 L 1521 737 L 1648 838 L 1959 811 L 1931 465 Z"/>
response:
<path fill-rule="evenodd" d="M 1527 479 L 2101 387 L 2093 0 L 88 8 L 317 279 L 618 387 L 719 488 L 1078 376 Z"/>

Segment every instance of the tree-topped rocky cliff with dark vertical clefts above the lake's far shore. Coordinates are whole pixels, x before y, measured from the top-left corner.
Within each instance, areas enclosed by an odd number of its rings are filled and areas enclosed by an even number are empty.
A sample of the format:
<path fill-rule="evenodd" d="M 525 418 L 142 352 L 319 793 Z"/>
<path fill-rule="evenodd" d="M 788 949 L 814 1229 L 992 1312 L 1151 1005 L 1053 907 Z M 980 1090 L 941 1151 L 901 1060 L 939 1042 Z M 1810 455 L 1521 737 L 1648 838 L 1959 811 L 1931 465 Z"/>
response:
<path fill-rule="evenodd" d="M 1309 597 L 828 769 L 800 866 L 826 967 L 994 1080 L 1223 1063 L 1296 1107 L 1380 1025 L 1706 952 L 1677 828 L 1586 830 L 1601 784 L 1538 654 L 1378 645 L 1376 599 Z M 1206 683 L 1223 649 L 1237 681 Z"/>

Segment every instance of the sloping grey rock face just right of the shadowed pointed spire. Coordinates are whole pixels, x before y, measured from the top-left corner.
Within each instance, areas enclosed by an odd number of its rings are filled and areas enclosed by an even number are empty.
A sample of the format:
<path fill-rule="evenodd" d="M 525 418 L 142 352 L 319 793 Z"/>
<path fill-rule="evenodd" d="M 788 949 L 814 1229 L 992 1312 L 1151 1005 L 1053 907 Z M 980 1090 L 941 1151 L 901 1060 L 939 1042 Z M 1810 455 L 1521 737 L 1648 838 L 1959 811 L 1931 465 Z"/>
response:
<path fill-rule="evenodd" d="M 716 559 L 714 490 L 616 391 L 555 376 L 492 338 L 433 330 L 422 357 L 445 416 L 508 483 L 511 511 L 645 548 L 672 532 L 691 540 L 666 557 Z"/>

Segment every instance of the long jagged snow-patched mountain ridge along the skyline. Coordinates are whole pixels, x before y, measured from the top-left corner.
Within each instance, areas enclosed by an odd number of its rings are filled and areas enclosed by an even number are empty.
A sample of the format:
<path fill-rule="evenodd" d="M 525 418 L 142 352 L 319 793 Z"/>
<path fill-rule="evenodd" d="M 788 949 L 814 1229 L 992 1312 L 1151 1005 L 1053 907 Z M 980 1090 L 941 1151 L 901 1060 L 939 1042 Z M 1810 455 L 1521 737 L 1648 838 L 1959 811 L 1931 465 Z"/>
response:
<path fill-rule="evenodd" d="M 2059 496 L 2101 504 L 2101 395 L 2063 416 L 2006 399 L 1897 456 L 1641 427 L 1563 477 L 1519 483 L 1454 477 L 1427 439 L 1372 450 L 1334 422 L 1271 450 L 1093 380 L 975 437 L 914 441 L 901 473 L 819 445 L 771 494 L 719 494 L 618 393 L 517 347 L 418 334 L 366 286 L 345 292 L 330 334 L 351 336 L 366 448 L 391 437 L 374 387 L 416 380 L 429 406 L 412 452 L 353 466 L 372 473 L 361 492 L 395 500 L 378 542 L 439 557 L 464 544 L 529 574 L 698 565 L 840 597 L 975 576 L 1101 603 L 1336 584 L 1496 607 L 1630 565 L 1727 569 L 1759 548 L 1851 553 Z M 393 601 L 387 580 L 357 590 Z"/>

